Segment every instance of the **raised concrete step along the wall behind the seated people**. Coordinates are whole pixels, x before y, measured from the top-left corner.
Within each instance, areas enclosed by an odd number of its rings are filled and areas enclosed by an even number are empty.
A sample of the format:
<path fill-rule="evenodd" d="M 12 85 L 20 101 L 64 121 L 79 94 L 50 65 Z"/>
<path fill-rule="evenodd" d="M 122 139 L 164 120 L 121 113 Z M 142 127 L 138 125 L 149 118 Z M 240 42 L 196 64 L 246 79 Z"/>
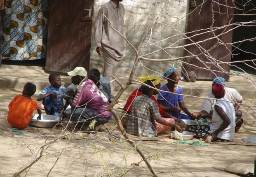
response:
<path fill-rule="evenodd" d="M 37 92 L 42 91 L 45 86 L 49 86 L 48 76 L 49 73 L 45 72 L 40 66 L 22 66 L 22 65 L 1 65 L 0 67 L 0 89 L 12 88 L 22 89 L 24 84 L 32 82 L 37 86 Z M 68 75 L 61 75 L 62 85 L 67 87 L 71 84 L 71 77 Z M 128 76 L 121 74 L 117 75 L 121 84 L 126 84 Z M 138 79 L 138 76 L 134 77 Z M 226 86 L 237 89 L 244 98 L 255 98 L 256 96 L 256 83 L 255 77 L 247 75 L 231 75 L 229 82 Z M 164 85 L 167 80 L 162 79 L 161 84 Z M 179 81 L 178 86 L 181 86 L 185 95 L 193 95 L 204 97 L 211 91 L 211 81 L 195 81 L 193 83 Z M 139 85 L 133 84 L 125 91 L 125 95 L 129 95 L 137 89 Z M 120 86 L 115 84 L 115 92 L 120 90 Z"/>

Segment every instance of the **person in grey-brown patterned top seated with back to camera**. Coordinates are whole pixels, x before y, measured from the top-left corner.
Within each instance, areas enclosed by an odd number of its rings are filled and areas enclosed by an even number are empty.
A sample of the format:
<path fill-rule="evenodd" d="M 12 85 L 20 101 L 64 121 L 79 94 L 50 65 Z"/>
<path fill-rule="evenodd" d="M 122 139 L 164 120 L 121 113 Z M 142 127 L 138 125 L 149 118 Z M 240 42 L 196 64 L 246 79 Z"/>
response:
<path fill-rule="evenodd" d="M 145 84 L 154 87 L 151 81 L 146 81 Z M 132 103 L 132 109 L 126 122 L 127 132 L 146 137 L 170 131 L 172 127 L 176 128 L 178 132 L 182 132 L 181 127 L 176 126 L 174 119 L 161 117 L 157 103 L 150 98 L 154 89 L 148 86 L 140 87 L 139 91 L 143 94 L 137 96 Z"/>

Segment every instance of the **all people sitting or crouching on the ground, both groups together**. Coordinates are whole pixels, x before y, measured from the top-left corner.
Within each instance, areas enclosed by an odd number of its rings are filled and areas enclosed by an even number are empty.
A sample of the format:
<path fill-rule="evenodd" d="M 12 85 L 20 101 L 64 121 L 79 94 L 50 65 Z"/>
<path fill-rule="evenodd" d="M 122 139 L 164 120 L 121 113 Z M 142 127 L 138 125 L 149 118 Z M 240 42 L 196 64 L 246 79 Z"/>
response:
<path fill-rule="evenodd" d="M 109 80 L 101 77 L 99 70 L 92 69 L 87 74 L 83 67 L 76 67 L 68 75 L 71 76 L 72 84 L 65 88 L 61 86 L 60 75 L 52 72 L 49 75 L 50 86 L 43 89 L 37 100 L 42 100 L 46 114 L 59 116 L 65 110 L 70 121 L 83 125 L 95 120 L 91 130 L 99 130 L 112 116 L 107 110 L 111 93 Z M 172 66 L 165 70 L 163 76 L 167 79 L 164 86 L 161 86 L 157 76 L 139 77 L 141 87 L 129 96 L 121 117 L 128 133 L 153 137 L 171 129 L 183 132 L 177 123 L 184 123 L 183 119 L 197 119 L 203 126 L 190 128 L 197 137 L 208 142 L 233 140 L 234 133 L 243 123 L 242 112 L 239 110 L 242 96 L 235 89 L 224 87 L 225 79 L 216 77 L 201 111 L 191 113 L 183 101 L 183 91 L 178 86 L 177 68 Z M 31 98 L 35 91 L 35 85 L 27 83 L 22 95 L 17 95 L 9 104 L 7 120 L 11 126 L 26 128 L 35 109 L 38 111 L 38 119 L 41 119 L 40 107 Z M 157 95 L 157 99 L 154 95 Z M 63 99 L 66 100 L 65 104 Z M 231 102 L 235 102 L 235 106 Z M 24 110 L 23 114 L 21 109 Z"/>

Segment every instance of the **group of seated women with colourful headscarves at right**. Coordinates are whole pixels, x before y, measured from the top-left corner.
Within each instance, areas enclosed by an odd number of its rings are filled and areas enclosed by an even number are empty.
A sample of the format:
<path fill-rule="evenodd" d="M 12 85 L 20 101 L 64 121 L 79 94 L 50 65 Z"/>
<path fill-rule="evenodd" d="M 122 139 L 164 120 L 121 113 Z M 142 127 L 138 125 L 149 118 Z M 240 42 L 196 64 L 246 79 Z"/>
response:
<path fill-rule="evenodd" d="M 159 77 L 148 75 L 139 78 L 144 84 L 129 96 L 122 112 L 121 122 L 128 133 L 152 137 L 171 129 L 183 132 L 177 122 L 184 123 L 183 119 L 197 119 L 200 126 L 189 130 L 194 132 L 196 137 L 207 142 L 233 140 L 234 133 L 243 123 L 242 112 L 239 110 L 242 96 L 237 90 L 224 87 L 225 79 L 216 77 L 211 92 L 204 99 L 201 111 L 191 113 L 183 101 L 183 91 L 177 85 L 177 68 L 172 66 L 163 76 L 167 79 L 167 84 L 162 87 Z M 157 99 L 153 96 L 156 94 Z M 231 102 L 235 102 L 235 105 Z"/>

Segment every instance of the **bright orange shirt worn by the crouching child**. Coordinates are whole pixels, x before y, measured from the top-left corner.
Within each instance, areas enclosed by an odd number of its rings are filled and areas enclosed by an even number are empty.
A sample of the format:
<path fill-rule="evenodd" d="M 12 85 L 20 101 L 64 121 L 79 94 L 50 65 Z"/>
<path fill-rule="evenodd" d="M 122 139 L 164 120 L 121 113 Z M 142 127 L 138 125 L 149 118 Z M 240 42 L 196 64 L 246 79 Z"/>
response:
<path fill-rule="evenodd" d="M 7 121 L 13 127 L 25 128 L 30 122 L 35 109 L 40 109 L 35 100 L 23 95 L 16 95 L 9 104 Z"/>

